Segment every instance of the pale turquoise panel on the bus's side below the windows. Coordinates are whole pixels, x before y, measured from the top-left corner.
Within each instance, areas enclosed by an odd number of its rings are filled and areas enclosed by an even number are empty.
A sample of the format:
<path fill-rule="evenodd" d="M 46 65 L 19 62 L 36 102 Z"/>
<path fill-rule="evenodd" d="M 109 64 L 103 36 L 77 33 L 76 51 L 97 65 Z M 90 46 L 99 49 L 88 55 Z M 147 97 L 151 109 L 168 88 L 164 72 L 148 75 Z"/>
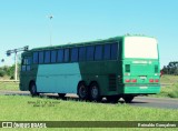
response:
<path fill-rule="evenodd" d="M 77 85 L 80 80 L 78 63 L 41 64 L 37 74 L 37 91 L 77 93 Z"/>

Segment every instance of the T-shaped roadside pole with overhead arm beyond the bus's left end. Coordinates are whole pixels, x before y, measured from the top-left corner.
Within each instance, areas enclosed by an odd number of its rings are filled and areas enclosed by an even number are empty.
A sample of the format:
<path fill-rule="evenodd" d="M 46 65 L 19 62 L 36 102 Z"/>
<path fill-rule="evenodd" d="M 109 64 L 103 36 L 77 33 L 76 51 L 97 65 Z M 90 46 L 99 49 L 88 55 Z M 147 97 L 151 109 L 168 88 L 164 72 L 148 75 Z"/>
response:
<path fill-rule="evenodd" d="M 8 50 L 7 51 L 7 57 L 10 57 L 11 53 L 14 53 L 14 81 L 18 80 L 18 52 L 20 51 L 28 51 L 29 47 L 26 46 L 23 48 L 18 48 L 18 49 L 13 49 L 13 50 Z"/>

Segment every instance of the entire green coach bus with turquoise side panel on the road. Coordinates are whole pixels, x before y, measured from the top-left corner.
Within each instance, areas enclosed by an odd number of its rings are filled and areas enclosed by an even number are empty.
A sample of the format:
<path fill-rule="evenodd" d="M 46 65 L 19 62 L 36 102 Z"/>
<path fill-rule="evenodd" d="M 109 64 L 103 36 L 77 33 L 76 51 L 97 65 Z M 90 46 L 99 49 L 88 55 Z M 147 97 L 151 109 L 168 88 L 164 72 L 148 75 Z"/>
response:
<path fill-rule="evenodd" d="M 21 54 L 20 90 L 131 102 L 160 92 L 158 43 L 146 36 L 36 48 Z"/>

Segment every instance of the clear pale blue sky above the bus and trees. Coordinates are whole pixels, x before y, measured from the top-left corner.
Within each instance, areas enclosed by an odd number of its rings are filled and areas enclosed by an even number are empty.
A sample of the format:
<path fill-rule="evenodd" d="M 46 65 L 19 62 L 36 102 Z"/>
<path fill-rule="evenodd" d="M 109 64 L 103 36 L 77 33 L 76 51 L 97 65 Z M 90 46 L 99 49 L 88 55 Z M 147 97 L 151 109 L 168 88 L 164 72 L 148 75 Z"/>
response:
<path fill-rule="evenodd" d="M 7 50 L 127 33 L 157 38 L 160 67 L 178 61 L 178 0 L 0 0 L 0 67 Z"/>

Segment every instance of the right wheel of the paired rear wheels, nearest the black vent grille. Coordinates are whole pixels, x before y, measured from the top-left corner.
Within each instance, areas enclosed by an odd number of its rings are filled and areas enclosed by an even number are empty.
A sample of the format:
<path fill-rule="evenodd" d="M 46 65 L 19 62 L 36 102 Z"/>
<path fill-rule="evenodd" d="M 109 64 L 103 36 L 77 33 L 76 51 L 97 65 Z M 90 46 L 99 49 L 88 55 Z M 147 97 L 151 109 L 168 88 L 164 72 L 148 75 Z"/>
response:
<path fill-rule="evenodd" d="M 99 85 L 97 82 L 92 82 L 90 84 L 90 100 L 96 101 L 96 102 L 102 100 L 102 98 L 100 95 L 100 91 L 99 91 Z"/>

